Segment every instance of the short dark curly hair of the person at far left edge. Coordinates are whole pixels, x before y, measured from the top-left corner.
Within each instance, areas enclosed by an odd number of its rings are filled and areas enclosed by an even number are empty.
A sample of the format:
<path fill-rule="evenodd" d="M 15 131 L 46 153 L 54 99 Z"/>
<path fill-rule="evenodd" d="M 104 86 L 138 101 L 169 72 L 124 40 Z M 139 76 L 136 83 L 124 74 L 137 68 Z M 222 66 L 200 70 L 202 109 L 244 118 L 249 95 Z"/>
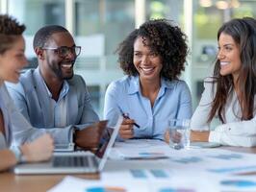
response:
<path fill-rule="evenodd" d="M 12 16 L 0 14 L 0 54 L 10 49 L 25 29 L 25 25 L 19 24 Z"/>

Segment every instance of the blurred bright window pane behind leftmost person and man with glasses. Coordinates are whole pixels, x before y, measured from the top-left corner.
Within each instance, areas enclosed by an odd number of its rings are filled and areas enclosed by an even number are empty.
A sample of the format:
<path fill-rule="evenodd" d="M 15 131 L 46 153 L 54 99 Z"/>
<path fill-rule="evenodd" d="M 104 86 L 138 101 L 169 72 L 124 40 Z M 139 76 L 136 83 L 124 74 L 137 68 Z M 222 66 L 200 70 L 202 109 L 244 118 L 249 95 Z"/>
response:
<path fill-rule="evenodd" d="M 26 25 L 25 55 L 29 61 L 26 68 L 37 67 L 38 60 L 33 50 L 33 37 L 42 26 L 54 24 L 64 26 L 64 0 L 9 0 L 8 12 Z"/>

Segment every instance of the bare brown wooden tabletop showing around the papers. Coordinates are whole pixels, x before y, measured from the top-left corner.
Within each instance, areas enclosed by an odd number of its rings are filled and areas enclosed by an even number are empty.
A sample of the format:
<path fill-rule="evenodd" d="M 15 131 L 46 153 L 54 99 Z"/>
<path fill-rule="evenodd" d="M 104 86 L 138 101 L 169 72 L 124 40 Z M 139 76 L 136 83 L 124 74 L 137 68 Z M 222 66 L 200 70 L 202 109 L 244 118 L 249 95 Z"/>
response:
<path fill-rule="evenodd" d="M 221 149 L 256 154 L 254 148 L 221 147 Z M 256 175 L 256 172 L 248 173 Z M 83 179 L 99 179 L 98 174 L 74 175 Z M 42 192 L 52 188 L 63 180 L 65 175 L 16 176 L 12 171 L 0 173 L 0 191 L 3 192 Z"/>

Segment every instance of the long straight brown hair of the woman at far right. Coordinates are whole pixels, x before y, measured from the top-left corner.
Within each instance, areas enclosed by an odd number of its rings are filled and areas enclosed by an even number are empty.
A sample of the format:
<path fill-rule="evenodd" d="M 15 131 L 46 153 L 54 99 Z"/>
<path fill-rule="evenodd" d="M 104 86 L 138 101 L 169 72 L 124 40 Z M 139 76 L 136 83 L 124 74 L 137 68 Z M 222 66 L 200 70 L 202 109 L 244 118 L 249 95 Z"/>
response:
<path fill-rule="evenodd" d="M 251 17 L 232 19 L 224 23 L 218 30 L 218 39 L 221 33 L 232 36 L 240 47 L 242 67 L 239 73 L 238 86 L 241 91 L 240 105 L 242 108 L 241 120 L 253 117 L 254 96 L 256 93 L 256 20 Z M 216 84 L 216 95 L 209 114 L 210 122 L 217 114 L 219 120 L 225 122 L 225 104 L 230 93 L 234 91 L 232 75 L 219 74 L 220 63 L 216 61 L 212 84 Z M 238 114 L 236 114 L 238 116 Z"/>

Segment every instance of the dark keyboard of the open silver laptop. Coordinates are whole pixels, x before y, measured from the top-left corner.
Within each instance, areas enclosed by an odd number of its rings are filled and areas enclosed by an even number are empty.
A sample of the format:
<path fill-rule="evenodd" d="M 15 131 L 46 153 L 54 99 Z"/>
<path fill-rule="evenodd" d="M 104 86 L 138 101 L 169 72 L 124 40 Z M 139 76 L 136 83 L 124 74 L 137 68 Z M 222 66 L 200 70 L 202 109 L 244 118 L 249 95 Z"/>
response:
<path fill-rule="evenodd" d="M 55 156 L 54 167 L 89 167 L 90 162 L 95 161 L 93 156 Z"/>

